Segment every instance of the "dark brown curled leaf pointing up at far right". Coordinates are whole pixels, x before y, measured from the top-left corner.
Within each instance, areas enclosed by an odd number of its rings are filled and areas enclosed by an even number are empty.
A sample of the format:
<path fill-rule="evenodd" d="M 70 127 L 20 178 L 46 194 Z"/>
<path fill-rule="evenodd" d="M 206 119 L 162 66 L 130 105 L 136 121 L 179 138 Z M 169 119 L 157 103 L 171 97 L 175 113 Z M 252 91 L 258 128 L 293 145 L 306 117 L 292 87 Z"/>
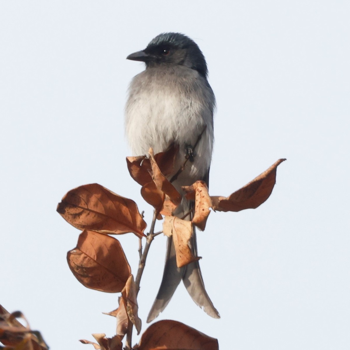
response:
<path fill-rule="evenodd" d="M 212 208 L 218 211 L 240 211 L 259 207 L 271 195 L 276 182 L 277 167 L 285 160 L 279 159 L 264 173 L 229 197 L 211 196 Z"/>

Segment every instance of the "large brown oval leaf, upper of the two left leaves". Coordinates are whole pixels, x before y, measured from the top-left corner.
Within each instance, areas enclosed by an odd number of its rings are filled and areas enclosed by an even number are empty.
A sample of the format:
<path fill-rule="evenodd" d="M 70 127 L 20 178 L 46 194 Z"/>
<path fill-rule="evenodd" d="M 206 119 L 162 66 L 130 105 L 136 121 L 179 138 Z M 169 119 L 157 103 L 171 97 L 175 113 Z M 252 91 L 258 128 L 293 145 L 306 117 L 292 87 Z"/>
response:
<path fill-rule="evenodd" d="M 146 223 L 136 203 L 97 183 L 70 190 L 58 204 L 57 212 L 80 230 L 145 236 Z"/>

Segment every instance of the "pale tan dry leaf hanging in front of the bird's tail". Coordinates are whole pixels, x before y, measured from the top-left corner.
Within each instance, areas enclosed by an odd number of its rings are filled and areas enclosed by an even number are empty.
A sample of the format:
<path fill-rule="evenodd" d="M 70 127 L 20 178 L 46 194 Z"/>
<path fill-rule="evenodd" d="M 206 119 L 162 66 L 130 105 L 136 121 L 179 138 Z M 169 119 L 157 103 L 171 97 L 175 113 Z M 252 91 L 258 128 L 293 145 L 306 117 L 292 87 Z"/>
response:
<path fill-rule="evenodd" d="M 168 237 L 173 236 L 177 267 L 200 259 L 193 255 L 188 245 L 192 236 L 192 223 L 190 221 L 182 220 L 176 216 L 166 216 L 163 222 L 163 233 Z"/>

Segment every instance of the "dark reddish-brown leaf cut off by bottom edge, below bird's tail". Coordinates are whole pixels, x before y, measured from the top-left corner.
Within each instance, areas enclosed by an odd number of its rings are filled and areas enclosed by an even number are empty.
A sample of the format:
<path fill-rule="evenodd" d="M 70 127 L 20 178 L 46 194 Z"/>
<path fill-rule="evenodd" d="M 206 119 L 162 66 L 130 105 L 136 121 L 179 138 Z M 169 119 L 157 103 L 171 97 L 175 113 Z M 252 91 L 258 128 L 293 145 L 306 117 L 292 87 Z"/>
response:
<path fill-rule="evenodd" d="M 218 350 L 218 341 L 181 322 L 153 323 L 142 334 L 138 350 L 151 349 Z"/>

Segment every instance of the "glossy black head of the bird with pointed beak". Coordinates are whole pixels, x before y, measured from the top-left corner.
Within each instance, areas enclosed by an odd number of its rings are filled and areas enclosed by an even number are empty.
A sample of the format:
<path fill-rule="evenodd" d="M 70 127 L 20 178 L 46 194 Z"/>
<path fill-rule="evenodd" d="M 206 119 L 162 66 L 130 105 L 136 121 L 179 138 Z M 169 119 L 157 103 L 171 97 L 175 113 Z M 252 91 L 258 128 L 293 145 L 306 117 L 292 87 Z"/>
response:
<path fill-rule="evenodd" d="M 207 63 L 198 45 L 180 33 L 162 33 L 147 45 L 145 50 L 135 52 L 127 59 L 142 61 L 146 66 L 184 65 L 207 77 Z"/>

